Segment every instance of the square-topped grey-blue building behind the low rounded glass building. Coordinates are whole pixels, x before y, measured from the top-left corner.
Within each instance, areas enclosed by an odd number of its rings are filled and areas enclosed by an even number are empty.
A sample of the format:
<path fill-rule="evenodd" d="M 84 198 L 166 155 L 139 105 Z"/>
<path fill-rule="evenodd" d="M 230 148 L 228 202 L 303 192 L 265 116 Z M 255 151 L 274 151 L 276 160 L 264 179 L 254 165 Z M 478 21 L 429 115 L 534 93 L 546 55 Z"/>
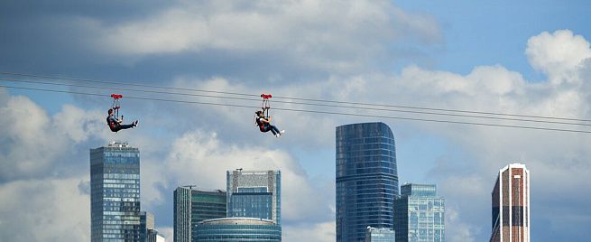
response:
<path fill-rule="evenodd" d="M 227 217 L 270 219 L 281 225 L 282 173 L 280 171 L 226 172 Z"/>

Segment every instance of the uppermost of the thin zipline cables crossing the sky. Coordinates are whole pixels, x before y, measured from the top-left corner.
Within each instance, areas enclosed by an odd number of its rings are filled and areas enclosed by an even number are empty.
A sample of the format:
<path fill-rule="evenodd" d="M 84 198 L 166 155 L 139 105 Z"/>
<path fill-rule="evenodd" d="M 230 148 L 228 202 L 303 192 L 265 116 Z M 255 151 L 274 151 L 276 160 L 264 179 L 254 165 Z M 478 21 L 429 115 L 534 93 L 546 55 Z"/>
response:
<path fill-rule="evenodd" d="M 227 94 L 227 95 L 236 95 L 236 96 L 258 97 L 258 95 L 245 94 L 245 93 L 224 92 L 224 91 L 214 91 L 214 90 L 204 90 L 204 89 L 194 89 L 194 88 L 173 88 L 173 87 L 165 87 L 165 86 L 144 85 L 144 84 L 134 84 L 134 83 L 114 82 L 114 81 L 104 81 L 104 80 L 93 80 L 93 79 L 72 79 L 72 78 L 64 78 L 64 77 L 51 77 L 51 76 L 44 76 L 44 75 L 33 75 L 33 74 L 14 73 L 14 72 L 0 72 L 0 74 L 12 75 L 12 76 L 43 78 L 43 79 L 65 79 L 65 80 L 74 80 L 74 81 L 96 82 L 96 83 L 103 83 L 103 84 L 128 85 L 128 86 L 143 87 L 143 88 L 166 88 L 166 89 L 185 90 L 185 91 L 197 91 L 197 92 L 206 92 L 206 93 L 217 93 L 217 94 Z M 281 98 L 284 98 L 284 99 L 303 100 L 303 101 L 312 101 L 312 102 L 337 103 L 337 104 L 347 104 L 347 105 L 360 105 L 360 106 L 369 106 L 369 107 L 397 107 L 397 108 L 407 108 L 407 109 L 420 109 L 420 110 L 455 112 L 455 113 L 467 113 L 467 114 L 478 114 L 478 115 L 518 116 L 518 117 L 557 119 L 557 120 L 577 121 L 577 122 L 591 122 L 591 120 L 588 120 L 588 119 L 577 119 L 577 118 L 558 117 L 558 116 L 531 116 L 531 115 L 518 115 L 518 114 L 507 114 L 507 113 L 468 111 L 468 110 L 458 110 L 458 109 L 432 108 L 432 107 L 412 107 L 412 106 L 398 106 L 398 105 L 380 105 L 380 104 L 371 104 L 371 103 L 362 103 L 362 102 L 335 101 L 335 100 L 313 99 L 313 98 L 291 98 L 291 97 L 281 97 L 281 96 L 274 97 L 274 98 L 280 98 L 280 99 Z M 275 102 L 278 102 L 278 101 L 275 101 Z M 368 107 L 364 107 L 364 108 L 368 108 Z"/>

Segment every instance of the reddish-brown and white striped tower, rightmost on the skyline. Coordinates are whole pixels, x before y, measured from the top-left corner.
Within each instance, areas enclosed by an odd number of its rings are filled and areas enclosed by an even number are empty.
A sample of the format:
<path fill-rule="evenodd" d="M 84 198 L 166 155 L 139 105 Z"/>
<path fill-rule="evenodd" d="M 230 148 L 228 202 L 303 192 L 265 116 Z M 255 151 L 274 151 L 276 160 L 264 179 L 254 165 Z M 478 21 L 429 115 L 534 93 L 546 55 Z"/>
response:
<path fill-rule="evenodd" d="M 530 241 L 530 171 L 512 163 L 499 170 L 492 192 L 490 242 Z"/>

